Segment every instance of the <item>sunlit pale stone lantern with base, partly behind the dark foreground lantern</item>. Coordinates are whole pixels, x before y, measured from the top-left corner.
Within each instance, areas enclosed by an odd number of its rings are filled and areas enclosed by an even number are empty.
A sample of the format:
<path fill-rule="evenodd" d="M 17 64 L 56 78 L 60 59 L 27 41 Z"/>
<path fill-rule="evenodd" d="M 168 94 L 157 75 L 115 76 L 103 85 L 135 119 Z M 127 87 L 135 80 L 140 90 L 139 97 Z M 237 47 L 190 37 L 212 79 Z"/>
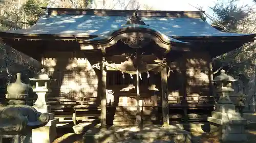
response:
<path fill-rule="evenodd" d="M 51 112 L 51 106 L 48 105 L 47 95 L 51 92 L 50 82 L 55 81 L 49 78 L 46 74 L 45 69 L 41 70 L 41 73 L 35 77 L 30 78 L 31 81 L 35 81 L 35 89 L 33 90 L 37 94 L 37 100 L 34 103 L 34 108 L 41 113 L 49 113 L 50 121 L 47 125 L 33 129 L 32 131 L 32 141 L 37 143 L 50 143 L 56 136 L 56 124 L 58 119 L 54 119 L 54 113 Z M 40 137 L 40 139 L 38 139 Z"/>

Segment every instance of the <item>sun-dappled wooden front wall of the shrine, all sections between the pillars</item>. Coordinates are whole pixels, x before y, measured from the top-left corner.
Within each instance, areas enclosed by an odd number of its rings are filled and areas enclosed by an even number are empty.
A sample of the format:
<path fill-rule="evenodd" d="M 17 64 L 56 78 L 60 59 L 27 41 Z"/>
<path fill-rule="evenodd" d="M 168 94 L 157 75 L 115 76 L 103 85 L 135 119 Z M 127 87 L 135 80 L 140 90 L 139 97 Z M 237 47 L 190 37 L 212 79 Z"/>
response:
<path fill-rule="evenodd" d="M 99 106 L 99 70 L 93 69 L 92 65 L 101 59 L 97 59 L 95 54 L 85 55 L 82 52 L 49 52 L 44 56 L 41 64 L 57 79 L 52 82 L 53 91 L 49 95 L 55 111 L 70 109 L 72 112 L 72 106 L 79 104 Z M 172 69 L 168 78 L 170 120 L 184 121 L 188 116 L 201 117 L 202 114 L 205 118 L 206 114 L 201 109 L 205 109 L 203 105 L 207 106 L 210 100 L 209 63 L 207 53 L 184 53 L 177 61 L 169 64 Z M 136 90 L 132 87 L 132 84 L 136 85 L 135 79 L 135 76 L 131 79 L 129 74 L 122 78 L 121 72 L 118 71 L 107 73 L 108 124 L 135 123 L 137 102 Z M 144 121 L 160 123 L 160 75 L 150 73 L 147 78 L 147 74 L 143 73 L 140 85 L 139 104 L 144 106 Z M 155 90 L 148 90 L 150 88 Z"/>

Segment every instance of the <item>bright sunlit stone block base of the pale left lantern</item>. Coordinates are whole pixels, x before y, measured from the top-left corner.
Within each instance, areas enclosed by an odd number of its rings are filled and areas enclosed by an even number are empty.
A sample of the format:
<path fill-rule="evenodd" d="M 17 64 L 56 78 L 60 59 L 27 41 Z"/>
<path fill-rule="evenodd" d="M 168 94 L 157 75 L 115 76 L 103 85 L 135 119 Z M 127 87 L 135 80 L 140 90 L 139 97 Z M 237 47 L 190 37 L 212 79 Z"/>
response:
<path fill-rule="evenodd" d="M 53 119 L 48 122 L 44 127 L 40 127 L 32 130 L 32 142 L 33 143 L 51 143 L 56 139 L 56 124 L 58 119 Z"/>

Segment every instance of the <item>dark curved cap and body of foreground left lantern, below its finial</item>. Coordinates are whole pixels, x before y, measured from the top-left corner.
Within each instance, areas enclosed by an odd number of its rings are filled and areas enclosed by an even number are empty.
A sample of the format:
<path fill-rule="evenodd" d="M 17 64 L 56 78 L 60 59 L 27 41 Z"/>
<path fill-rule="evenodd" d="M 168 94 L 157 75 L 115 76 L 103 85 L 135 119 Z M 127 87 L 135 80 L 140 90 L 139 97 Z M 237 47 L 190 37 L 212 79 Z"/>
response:
<path fill-rule="evenodd" d="M 32 130 L 45 126 L 50 120 L 48 113 L 23 104 L 0 107 L 0 142 L 32 143 Z M 37 136 L 37 138 L 40 136 Z M 37 142 L 37 141 L 36 141 Z"/>

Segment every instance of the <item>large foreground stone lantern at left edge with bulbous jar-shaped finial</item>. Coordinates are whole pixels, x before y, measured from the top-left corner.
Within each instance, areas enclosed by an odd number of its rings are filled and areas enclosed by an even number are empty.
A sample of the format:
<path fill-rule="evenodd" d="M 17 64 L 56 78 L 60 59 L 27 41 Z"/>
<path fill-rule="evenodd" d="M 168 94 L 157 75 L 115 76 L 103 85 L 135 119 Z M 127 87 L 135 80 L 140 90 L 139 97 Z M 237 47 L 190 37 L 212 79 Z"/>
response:
<path fill-rule="evenodd" d="M 32 143 L 32 130 L 50 121 L 49 113 L 38 112 L 26 105 L 29 87 L 20 77 L 17 73 L 16 81 L 7 85 L 8 105 L 0 106 L 0 142 L 3 143 Z"/>

